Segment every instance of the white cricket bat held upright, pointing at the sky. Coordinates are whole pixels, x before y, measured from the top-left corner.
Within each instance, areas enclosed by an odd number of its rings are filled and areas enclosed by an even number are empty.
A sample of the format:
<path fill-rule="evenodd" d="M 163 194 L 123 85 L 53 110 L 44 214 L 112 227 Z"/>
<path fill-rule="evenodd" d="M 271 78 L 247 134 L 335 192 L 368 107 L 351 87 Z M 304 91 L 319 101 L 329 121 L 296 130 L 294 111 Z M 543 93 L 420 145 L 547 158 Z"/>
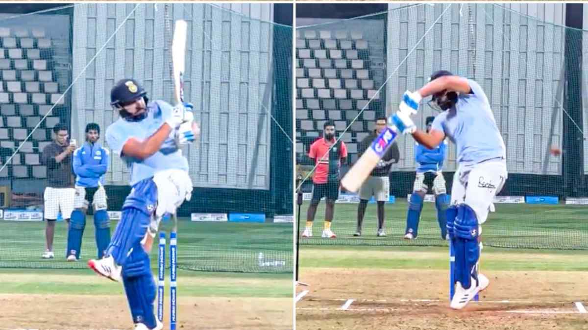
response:
<path fill-rule="evenodd" d="M 188 23 L 182 19 L 176 21 L 172 41 L 173 99 L 176 105 L 183 103 L 183 75 L 186 69 L 187 33 Z"/>

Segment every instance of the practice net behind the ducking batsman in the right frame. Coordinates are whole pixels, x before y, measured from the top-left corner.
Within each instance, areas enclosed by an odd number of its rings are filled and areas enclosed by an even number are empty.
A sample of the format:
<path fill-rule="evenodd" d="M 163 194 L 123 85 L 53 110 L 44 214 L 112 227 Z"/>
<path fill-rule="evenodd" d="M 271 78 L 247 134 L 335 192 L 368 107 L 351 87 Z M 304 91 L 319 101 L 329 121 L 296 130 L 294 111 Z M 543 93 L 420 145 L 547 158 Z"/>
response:
<path fill-rule="evenodd" d="M 482 86 L 506 144 L 509 179 L 495 200 L 496 212 L 483 224 L 484 244 L 588 248 L 588 112 L 582 102 L 588 75 L 578 69 L 588 63 L 582 57 L 588 31 L 558 25 L 564 12 L 549 14 L 554 22 L 501 5 L 420 4 L 335 22 L 297 18 L 297 26 L 307 25 L 296 29 L 296 170 L 304 200 L 299 234 L 312 196 L 315 164 L 308 151 L 322 136 L 323 123 L 332 120 L 336 137 L 348 148 L 342 177 L 358 159 L 358 143 L 373 132 L 375 119 L 395 112 L 405 90 L 422 87 L 432 72 L 445 69 Z M 428 100 L 413 116 L 420 129 L 427 116 L 437 114 Z M 443 175 L 450 194 L 456 147 L 447 143 Z M 400 136 L 397 145 L 400 160 L 389 173 L 387 236 L 376 237 L 372 197 L 362 235 L 354 237 L 359 198 L 341 190 L 331 227 L 337 238 L 321 238 L 322 200 L 313 237 L 300 238 L 300 244 L 446 245 L 435 203 L 429 203 L 432 195 L 426 197 L 417 239 L 403 240 L 415 140 Z M 552 146 L 562 155 L 550 154 Z"/>

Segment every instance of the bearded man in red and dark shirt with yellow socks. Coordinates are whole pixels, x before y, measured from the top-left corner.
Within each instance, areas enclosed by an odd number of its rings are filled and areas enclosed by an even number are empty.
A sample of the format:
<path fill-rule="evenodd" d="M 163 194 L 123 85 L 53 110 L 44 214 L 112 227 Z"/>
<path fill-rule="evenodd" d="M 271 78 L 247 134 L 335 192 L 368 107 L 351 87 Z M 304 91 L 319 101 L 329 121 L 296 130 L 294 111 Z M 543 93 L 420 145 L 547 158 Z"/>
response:
<path fill-rule="evenodd" d="M 312 223 L 320 199 L 326 197 L 325 228 L 323 238 L 336 238 L 330 229 L 335 212 L 335 201 L 339 198 L 339 167 L 347 157 L 347 147 L 343 141 L 335 143 L 335 123 L 325 122 L 323 137 L 316 140 L 308 151 L 308 157 L 315 160 L 316 170 L 312 177 L 312 200 L 306 213 L 306 228 L 302 237 L 312 237 Z"/>

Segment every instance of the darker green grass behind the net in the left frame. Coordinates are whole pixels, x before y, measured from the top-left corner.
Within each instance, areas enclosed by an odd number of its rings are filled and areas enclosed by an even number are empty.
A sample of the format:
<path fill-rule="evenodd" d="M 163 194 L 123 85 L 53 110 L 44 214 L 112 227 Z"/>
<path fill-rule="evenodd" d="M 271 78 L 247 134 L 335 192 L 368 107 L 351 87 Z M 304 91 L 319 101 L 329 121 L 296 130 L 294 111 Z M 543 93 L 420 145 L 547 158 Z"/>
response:
<path fill-rule="evenodd" d="M 114 231 L 117 221 L 112 221 Z M 169 233 L 172 221 L 163 221 L 160 229 Z M 66 224 L 55 228 L 54 260 L 42 260 L 45 246 L 45 223 L 0 221 L 0 268 L 85 268 L 86 261 L 96 258 L 94 226 L 88 217 L 79 262 L 66 262 Z M 169 245 L 169 234 L 168 245 Z M 151 253 L 156 268 L 157 243 Z M 260 260 L 260 253 L 262 260 Z M 169 264 L 169 247 L 166 248 Z M 260 261 L 263 261 L 260 265 Z M 283 272 L 292 271 L 291 223 L 206 223 L 179 220 L 179 268 L 205 271 Z"/>

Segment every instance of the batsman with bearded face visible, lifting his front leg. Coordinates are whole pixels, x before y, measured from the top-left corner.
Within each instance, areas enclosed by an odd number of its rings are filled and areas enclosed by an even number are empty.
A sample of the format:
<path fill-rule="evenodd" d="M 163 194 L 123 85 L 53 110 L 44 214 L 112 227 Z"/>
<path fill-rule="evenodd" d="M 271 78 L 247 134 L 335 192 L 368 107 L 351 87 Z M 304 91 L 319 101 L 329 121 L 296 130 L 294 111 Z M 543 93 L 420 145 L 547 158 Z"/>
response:
<path fill-rule="evenodd" d="M 136 80 L 122 79 L 111 90 L 120 117 L 106 129 L 106 142 L 131 171 L 131 193 L 122 206 L 105 257 L 88 261 L 97 274 L 125 287 L 135 330 L 162 329 L 153 312 L 156 286 L 149 251 L 164 214 L 175 214 L 192 195 L 188 160 L 179 147 L 199 134 L 192 105 L 149 102 Z"/>

